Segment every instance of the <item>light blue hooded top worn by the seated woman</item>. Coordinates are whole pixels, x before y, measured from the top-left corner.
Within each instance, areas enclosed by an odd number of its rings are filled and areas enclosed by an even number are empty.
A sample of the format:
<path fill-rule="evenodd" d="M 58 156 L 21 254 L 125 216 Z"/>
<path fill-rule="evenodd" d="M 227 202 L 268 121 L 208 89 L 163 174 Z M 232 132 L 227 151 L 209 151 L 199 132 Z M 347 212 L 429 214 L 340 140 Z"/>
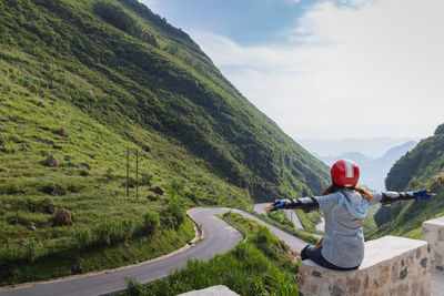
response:
<path fill-rule="evenodd" d="M 364 218 L 369 206 L 381 201 L 380 192 L 373 193 L 370 202 L 351 190 L 315 196 L 324 212 L 325 229 L 322 239 L 322 256 L 330 263 L 344 267 L 359 266 L 364 258 L 364 234 L 360 218 Z"/>

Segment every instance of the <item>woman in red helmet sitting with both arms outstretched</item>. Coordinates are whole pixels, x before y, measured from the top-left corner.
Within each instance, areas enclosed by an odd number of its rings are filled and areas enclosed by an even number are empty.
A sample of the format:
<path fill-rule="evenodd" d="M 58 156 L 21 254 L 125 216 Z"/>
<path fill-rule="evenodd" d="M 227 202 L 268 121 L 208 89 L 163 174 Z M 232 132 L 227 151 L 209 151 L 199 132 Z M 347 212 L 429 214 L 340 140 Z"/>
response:
<path fill-rule="evenodd" d="M 360 169 L 350 160 L 340 160 L 331 171 L 332 184 L 323 196 L 297 200 L 276 200 L 265 211 L 301 208 L 304 212 L 324 212 L 324 237 L 316 246 L 306 246 L 302 259 L 312 259 L 321 266 L 336 271 L 356 269 L 364 258 L 363 220 L 367 207 L 382 203 L 391 204 L 402 200 L 427 200 L 435 194 L 428 190 L 416 192 L 374 192 L 356 186 Z"/>

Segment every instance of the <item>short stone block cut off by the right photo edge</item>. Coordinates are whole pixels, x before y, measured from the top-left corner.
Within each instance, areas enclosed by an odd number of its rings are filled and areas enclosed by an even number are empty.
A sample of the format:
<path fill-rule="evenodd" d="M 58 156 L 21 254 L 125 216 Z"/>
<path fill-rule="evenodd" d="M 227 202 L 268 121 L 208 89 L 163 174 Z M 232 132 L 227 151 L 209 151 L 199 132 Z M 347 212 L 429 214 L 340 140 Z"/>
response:
<path fill-rule="evenodd" d="M 432 271 L 444 275 L 444 217 L 423 223 L 423 239 L 432 251 Z"/>

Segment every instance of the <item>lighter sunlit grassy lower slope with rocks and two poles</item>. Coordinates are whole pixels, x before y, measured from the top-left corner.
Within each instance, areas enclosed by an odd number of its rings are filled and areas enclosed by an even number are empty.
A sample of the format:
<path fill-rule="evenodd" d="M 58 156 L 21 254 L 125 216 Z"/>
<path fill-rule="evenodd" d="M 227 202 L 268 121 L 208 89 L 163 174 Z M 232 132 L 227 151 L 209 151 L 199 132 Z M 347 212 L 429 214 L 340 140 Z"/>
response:
<path fill-rule="evenodd" d="M 0 68 L 7 67 L 11 65 L 0 61 Z M 26 70 L 19 65 L 14 69 L 18 78 L 24 75 Z M 129 264 L 122 261 L 122 255 L 112 257 L 110 254 L 123 253 L 122 244 L 129 244 L 133 249 L 140 239 L 150 239 L 150 235 L 139 235 L 133 227 L 143 224 L 148 212 L 161 213 L 168 208 L 168 190 L 163 188 L 163 195 L 155 194 L 152 191 L 155 186 L 182 184 L 179 198 L 183 210 L 214 204 L 248 206 L 248 192 L 211 173 L 202 165 L 202 160 L 180 144 L 174 145 L 160 134 L 132 127 L 140 137 L 139 145 L 134 144 L 78 108 L 57 100 L 50 91 L 44 100 L 29 92 L 12 81 L 9 73 L 0 72 L 0 83 L 11 85 L 10 89 L 0 89 L 0 130 L 3 131 L 0 133 L 1 285 L 69 275 L 70 266 L 79 261 L 78 249 L 85 253 L 82 256 L 83 272 Z M 58 134 L 61 126 L 68 130 L 68 137 Z M 22 151 L 23 145 L 26 151 Z M 148 146 L 150 151 L 145 151 Z M 130 197 L 125 196 L 127 147 L 132 152 L 139 150 L 139 173 L 141 176 L 150 175 L 139 190 L 139 198 L 135 198 L 134 188 L 131 188 Z M 46 165 L 47 155 L 56 155 L 60 165 Z M 130 161 L 130 173 L 135 177 L 133 154 Z M 84 171 L 88 174 L 82 173 Z M 73 224 L 52 226 L 54 213 L 46 212 L 47 198 L 56 205 L 56 212 L 68 208 Z M 114 233 L 111 229 L 99 231 L 108 226 L 115 228 L 115 223 L 124 221 L 129 228 Z M 29 228 L 30 223 L 36 225 L 36 229 Z M 175 242 L 179 236 L 173 226 L 163 234 Z M 192 227 L 181 232 L 182 244 L 186 241 L 183 237 L 194 235 Z M 130 233 L 134 234 L 135 241 L 125 237 Z M 94 234 L 95 238 L 89 237 Z M 91 244 L 99 245 L 99 249 L 109 255 L 98 256 L 92 251 L 88 255 Z M 132 252 L 137 254 L 137 261 L 143 261 L 173 248 L 162 246 L 152 251 L 147 247 L 143 252 Z M 10 267 L 13 272 L 7 273 Z"/>

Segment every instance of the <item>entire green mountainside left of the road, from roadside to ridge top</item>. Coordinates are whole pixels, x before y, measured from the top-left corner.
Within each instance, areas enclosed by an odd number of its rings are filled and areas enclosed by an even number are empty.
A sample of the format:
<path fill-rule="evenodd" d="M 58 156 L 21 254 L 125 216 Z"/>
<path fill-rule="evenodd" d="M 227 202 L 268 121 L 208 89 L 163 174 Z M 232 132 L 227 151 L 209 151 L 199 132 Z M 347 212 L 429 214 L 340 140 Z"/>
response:
<path fill-rule="evenodd" d="M 139 198 L 125 196 L 127 147 Z M 0 1 L 0 285 L 159 256 L 194 235 L 189 207 L 245 208 L 326 180 L 139 2 Z"/>

